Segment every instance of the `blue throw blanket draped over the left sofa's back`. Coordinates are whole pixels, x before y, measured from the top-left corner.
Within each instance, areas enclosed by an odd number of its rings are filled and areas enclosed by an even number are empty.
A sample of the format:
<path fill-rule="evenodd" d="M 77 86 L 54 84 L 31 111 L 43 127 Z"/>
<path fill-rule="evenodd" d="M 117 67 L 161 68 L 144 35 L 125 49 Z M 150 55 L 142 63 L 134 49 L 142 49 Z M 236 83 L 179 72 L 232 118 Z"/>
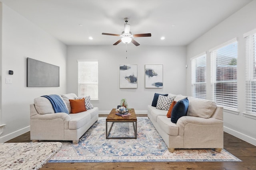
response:
<path fill-rule="evenodd" d="M 47 98 L 51 102 L 55 113 L 64 112 L 69 114 L 68 109 L 65 103 L 63 102 L 63 100 L 60 98 L 60 96 L 56 94 L 51 94 L 51 95 L 44 95 L 41 97 Z"/>

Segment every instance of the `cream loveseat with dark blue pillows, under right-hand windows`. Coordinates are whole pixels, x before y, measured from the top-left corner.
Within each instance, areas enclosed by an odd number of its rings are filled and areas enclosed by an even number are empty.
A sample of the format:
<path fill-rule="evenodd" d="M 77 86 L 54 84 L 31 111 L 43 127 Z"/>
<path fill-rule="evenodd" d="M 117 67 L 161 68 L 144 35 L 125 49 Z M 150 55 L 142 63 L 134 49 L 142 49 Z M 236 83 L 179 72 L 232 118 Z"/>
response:
<path fill-rule="evenodd" d="M 168 94 L 168 96 L 176 102 L 186 98 L 182 95 Z M 223 107 L 217 106 L 210 100 L 193 97 L 187 99 L 189 101 L 187 113 L 176 123 L 172 123 L 171 118 L 166 116 L 168 110 L 156 109 L 150 105 L 148 118 L 170 152 L 178 148 L 215 149 L 220 152 L 223 148 Z"/>

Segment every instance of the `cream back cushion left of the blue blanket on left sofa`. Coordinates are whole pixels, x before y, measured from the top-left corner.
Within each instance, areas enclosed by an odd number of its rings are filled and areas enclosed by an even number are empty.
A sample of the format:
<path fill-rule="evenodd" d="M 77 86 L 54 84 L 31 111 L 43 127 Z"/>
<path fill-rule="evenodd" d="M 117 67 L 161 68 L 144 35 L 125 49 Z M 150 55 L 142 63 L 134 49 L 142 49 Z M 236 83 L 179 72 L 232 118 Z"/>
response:
<path fill-rule="evenodd" d="M 34 105 L 36 107 L 36 111 L 39 114 L 55 113 L 51 102 L 47 98 L 44 98 L 44 97 L 35 98 Z"/>

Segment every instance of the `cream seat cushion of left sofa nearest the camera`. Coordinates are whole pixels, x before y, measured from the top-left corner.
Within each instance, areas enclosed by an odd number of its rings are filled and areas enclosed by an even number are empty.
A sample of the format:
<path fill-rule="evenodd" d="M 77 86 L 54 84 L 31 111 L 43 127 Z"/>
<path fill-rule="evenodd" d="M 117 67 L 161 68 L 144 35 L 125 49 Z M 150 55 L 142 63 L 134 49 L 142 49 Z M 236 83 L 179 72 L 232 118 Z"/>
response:
<path fill-rule="evenodd" d="M 91 120 L 91 114 L 83 111 L 76 114 L 70 114 L 71 120 L 68 123 L 68 129 L 79 129 Z"/>

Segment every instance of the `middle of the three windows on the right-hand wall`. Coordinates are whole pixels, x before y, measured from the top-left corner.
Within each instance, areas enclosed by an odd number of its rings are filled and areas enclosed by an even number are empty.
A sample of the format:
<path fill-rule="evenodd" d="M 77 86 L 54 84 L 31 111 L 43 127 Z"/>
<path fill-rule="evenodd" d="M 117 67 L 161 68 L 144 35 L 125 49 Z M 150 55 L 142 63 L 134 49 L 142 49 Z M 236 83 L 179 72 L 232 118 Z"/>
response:
<path fill-rule="evenodd" d="M 223 107 L 237 109 L 236 39 L 210 50 L 210 56 L 212 100 Z"/>

